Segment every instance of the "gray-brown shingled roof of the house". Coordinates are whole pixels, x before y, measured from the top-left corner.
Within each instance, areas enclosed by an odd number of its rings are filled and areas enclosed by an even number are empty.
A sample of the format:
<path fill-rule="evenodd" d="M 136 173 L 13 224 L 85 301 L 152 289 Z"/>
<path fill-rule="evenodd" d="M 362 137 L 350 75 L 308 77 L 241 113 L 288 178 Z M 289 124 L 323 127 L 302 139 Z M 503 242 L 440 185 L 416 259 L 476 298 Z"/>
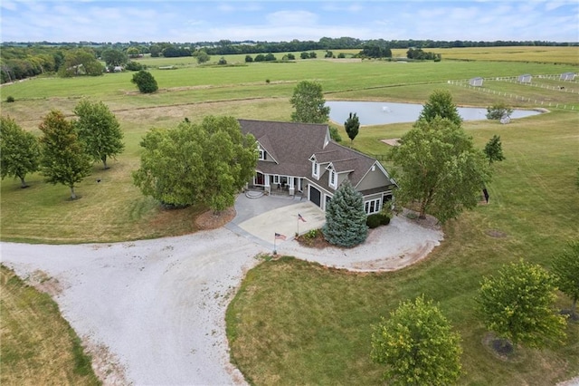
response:
<path fill-rule="evenodd" d="M 278 161 L 278 164 L 258 161 L 257 169 L 263 173 L 311 178 L 309 158 L 314 155 L 320 164 L 332 162 L 337 173 L 354 170 L 348 174 L 348 179 L 356 186 L 375 163 L 375 159 L 333 141 L 328 142 L 324 148 L 327 125 L 250 120 L 239 122 L 243 134 L 252 133 Z"/>

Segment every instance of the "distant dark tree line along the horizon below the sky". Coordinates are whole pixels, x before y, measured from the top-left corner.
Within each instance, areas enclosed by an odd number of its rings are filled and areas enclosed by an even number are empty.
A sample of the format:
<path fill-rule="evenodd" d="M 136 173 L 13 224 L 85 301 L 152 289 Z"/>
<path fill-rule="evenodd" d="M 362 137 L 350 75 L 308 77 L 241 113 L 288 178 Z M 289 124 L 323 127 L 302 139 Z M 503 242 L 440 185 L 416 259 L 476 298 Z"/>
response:
<path fill-rule="evenodd" d="M 417 53 L 432 48 L 458 47 L 501 47 L 501 46 L 576 46 L 577 42 L 546 42 L 546 41 L 434 41 L 434 40 L 362 40 L 353 37 L 330 38 L 322 37 L 318 42 L 297 39 L 290 42 L 260 42 L 260 41 L 231 41 L 197 43 L 169 43 L 169 42 L 3 42 L 0 50 L 0 81 L 14 82 L 24 78 L 40 75 L 46 72 L 64 72 L 68 69 L 78 69 L 74 63 L 67 63 L 67 56 L 71 53 L 86 52 L 94 59 L 100 58 L 103 53 L 116 50 L 127 53 L 130 57 L 150 54 L 152 57 L 181 57 L 193 56 L 203 51 L 208 55 L 250 54 L 250 53 L 285 53 L 309 52 L 315 50 L 348 50 L 359 49 L 366 52 L 389 52 L 391 49 L 412 49 Z M 78 54 L 77 54 L 78 56 Z M 74 62 L 74 60 L 72 60 Z M 63 67 L 66 66 L 66 67 Z M 62 70 L 62 69 L 65 70 Z M 98 72 L 97 66 L 91 70 Z"/>

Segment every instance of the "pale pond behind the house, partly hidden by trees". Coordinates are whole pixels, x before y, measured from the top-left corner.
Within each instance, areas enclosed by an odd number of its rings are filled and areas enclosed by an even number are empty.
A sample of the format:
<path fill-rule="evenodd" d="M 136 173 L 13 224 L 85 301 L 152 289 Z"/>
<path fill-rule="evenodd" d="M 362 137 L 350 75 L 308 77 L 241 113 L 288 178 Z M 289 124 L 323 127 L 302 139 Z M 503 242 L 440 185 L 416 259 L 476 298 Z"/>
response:
<path fill-rule="evenodd" d="M 356 112 L 361 125 L 384 125 L 388 123 L 413 122 L 422 111 L 422 104 L 394 103 L 390 101 L 326 101 L 330 107 L 329 119 L 343 124 L 350 112 Z M 487 109 L 459 107 L 463 121 L 486 120 Z M 534 110 L 515 110 L 511 119 L 525 118 L 540 114 Z"/>

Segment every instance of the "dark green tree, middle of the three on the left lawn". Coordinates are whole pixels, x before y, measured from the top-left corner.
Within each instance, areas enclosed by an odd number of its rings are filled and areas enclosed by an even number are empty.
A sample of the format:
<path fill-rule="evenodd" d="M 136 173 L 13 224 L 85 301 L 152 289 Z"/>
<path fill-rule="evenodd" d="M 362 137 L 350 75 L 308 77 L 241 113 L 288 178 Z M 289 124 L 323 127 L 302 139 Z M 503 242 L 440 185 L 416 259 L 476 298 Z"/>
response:
<path fill-rule="evenodd" d="M 46 181 L 71 188 L 71 199 L 76 199 L 74 187 L 90 174 L 91 159 L 70 121 L 61 111 L 49 112 L 41 122 L 41 171 Z"/>

